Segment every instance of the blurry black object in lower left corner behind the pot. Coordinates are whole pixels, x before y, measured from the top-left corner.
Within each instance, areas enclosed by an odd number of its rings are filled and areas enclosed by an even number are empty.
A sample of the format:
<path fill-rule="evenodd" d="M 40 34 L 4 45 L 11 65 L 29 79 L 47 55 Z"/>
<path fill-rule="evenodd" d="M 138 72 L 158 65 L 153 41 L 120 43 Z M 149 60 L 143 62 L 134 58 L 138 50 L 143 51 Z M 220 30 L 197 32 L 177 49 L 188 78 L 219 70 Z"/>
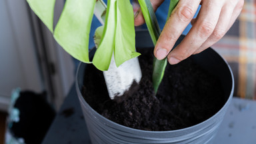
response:
<path fill-rule="evenodd" d="M 19 121 L 9 127 L 13 136 L 23 138 L 26 144 L 41 143 L 55 117 L 46 93 L 21 91 L 13 108 L 19 109 Z"/>

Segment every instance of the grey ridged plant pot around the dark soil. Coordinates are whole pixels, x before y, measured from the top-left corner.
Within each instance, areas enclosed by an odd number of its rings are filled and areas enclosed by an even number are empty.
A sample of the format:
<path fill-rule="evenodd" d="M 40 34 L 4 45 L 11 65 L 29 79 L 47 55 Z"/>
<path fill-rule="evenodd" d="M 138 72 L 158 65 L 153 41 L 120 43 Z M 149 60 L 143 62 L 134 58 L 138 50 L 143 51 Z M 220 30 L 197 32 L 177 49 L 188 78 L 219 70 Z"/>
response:
<path fill-rule="evenodd" d="M 183 36 L 177 43 L 181 42 Z M 147 31 L 137 31 L 137 47 L 152 47 L 149 33 Z M 93 52 L 91 52 L 93 55 Z M 175 131 L 143 131 L 132 129 L 109 121 L 93 110 L 81 95 L 83 86 L 83 75 L 86 71 L 86 64 L 81 63 L 77 70 L 76 89 L 77 94 L 88 127 L 92 143 L 212 143 L 218 127 L 223 121 L 227 107 L 231 102 L 234 89 L 233 73 L 227 62 L 213 49 L 209 48 L 198 55 L 193 55 L 193 59 L 221 80 L 220 85 L 224 89 L 225 105 L 215 115 L 192 127 L 178 129 Z M 92 89 L 93 91 L 93 89 Z"/>

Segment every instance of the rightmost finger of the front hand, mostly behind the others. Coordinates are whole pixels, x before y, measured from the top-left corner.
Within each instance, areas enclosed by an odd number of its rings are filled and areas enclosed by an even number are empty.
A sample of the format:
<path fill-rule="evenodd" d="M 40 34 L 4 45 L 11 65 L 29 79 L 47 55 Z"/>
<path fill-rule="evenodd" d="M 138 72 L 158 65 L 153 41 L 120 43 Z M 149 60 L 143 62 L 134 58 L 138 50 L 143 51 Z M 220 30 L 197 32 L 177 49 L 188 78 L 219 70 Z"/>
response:
<path fill-rule="evenodd" d="M 211 36 L 195 51 L 193 54 L 201 53 L 201 51 L 207 49 L 208 47 L 211 47 L 214 43 L 219 41 L 225 33 L 230 29 L 230 27 L 235 22 L 235 19 L 237 19 L 239 13 L 241 12 L 241 9 L 243 8 L 243 0 L 239 1 L 235 7 L 232 7 L 227 3 L 223 6 L 221 10 L 221 15 L 219 17 L 219 21 L 217 23 L 217 26 L 215 27 L 215 30 L 211 34 Z"/>

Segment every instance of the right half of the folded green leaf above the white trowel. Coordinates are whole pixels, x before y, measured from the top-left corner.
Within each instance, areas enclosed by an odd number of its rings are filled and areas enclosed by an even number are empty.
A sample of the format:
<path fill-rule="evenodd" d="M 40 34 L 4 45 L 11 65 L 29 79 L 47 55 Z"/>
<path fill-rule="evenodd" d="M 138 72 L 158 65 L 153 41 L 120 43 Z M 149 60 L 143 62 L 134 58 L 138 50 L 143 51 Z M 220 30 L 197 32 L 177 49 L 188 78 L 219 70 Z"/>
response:
<path fill-rule="evenodd" d="M 141 55 L 135 52 L 135 29 L 133 7 L 129 1 L 117 0 L 117 28 L 115 35 L 115 63 Z"/>

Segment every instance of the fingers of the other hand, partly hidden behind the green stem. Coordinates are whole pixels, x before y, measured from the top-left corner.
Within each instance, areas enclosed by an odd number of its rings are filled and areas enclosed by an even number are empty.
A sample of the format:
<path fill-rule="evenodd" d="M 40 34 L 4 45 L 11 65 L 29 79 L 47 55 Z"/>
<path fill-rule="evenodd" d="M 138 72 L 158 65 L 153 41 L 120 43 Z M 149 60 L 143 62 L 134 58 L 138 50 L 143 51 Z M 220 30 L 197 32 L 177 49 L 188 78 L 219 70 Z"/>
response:
<path fill-rule="evenodd" d="M 163 1 L 164 0 L 151 0 L 151 4 L 154 11 L 157 11 L 157 8 L 163 3 Z M 141 9 L 139 9 L 139 11 L 137 11 L 137 13 L 135 13 L 135 16 L 134 16 L 134 25 L 139 26 L 139 25 L 142 25 L 143 23 L 145 23 L 145 20 L 141 12 Z"/>

